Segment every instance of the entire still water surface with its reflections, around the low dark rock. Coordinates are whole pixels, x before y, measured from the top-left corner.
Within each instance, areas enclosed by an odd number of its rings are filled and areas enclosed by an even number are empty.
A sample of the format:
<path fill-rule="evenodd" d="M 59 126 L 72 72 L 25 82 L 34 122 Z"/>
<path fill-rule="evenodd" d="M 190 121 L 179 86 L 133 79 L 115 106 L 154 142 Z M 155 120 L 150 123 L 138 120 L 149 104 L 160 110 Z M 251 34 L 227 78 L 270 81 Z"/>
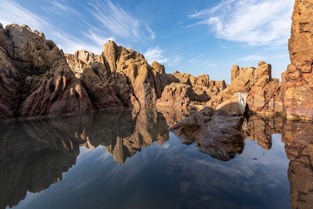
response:
<path fill-rule="evenodd" d="M 241 154 L 185 145 L 177 109 L 0 124 L 0 208 L 311 208 L 313 126 L 248 118 Z"/>

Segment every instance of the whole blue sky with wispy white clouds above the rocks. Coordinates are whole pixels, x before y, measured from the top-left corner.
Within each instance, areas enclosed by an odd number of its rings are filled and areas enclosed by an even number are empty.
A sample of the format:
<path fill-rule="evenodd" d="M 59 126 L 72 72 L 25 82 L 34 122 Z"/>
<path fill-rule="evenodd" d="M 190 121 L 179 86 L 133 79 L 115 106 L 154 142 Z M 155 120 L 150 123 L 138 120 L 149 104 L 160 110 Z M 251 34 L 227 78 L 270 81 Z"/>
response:
<path fill-rule="evenodd" d="M 294 0 L 0 0 L 0 23 L 27 24 L 64 53 L 100 54 L 114 40 L 151 64 L 230 83 L 230 69 L 290 62 Z"/>

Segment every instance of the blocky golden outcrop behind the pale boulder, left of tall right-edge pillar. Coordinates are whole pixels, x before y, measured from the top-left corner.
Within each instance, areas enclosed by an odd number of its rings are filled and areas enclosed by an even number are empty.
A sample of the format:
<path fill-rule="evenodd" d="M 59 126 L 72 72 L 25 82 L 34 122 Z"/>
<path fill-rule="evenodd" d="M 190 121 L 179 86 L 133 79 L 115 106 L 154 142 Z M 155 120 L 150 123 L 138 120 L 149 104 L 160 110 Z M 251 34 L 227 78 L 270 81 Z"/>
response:
<path fill-rule="evenodd" d="M 260 61 L 258 67 L 231 68 L 231 84 L 206 103 L 215 108 L 236 92 L 247 93 L 247 107 L 252 112 L 282 112 L 283 100 L 281 83 L 271 78 L 271 65 Z"/>

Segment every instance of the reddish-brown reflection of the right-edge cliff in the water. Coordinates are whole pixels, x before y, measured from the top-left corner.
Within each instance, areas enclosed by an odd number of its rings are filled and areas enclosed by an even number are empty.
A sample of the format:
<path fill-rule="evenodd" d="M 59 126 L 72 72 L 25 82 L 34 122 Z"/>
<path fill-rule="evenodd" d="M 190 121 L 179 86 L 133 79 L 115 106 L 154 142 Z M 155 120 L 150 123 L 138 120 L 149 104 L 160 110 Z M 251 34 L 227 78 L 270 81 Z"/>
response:
<path fill-rule="evenodd" d="M 292 208 L 313 206 L 313 123 L 286 121 L 281 136 L 289 162 Z"/>

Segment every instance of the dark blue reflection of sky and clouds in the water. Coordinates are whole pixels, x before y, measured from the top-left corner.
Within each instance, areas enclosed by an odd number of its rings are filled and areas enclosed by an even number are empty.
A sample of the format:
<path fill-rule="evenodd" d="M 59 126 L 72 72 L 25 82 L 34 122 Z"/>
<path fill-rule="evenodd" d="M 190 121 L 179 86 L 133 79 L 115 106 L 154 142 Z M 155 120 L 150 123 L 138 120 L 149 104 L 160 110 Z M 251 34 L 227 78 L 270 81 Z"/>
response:
<path fill-rule="evenodd" d="M 244 150 L 219 161 L 173 133 L 141 148 L 125 163 L 105 147 L 80 147 L 62 180 L 29 193 L 15 208 L 290 208 L 289 160 L 272 135 L 265 150 L 245 139 Z"/>

